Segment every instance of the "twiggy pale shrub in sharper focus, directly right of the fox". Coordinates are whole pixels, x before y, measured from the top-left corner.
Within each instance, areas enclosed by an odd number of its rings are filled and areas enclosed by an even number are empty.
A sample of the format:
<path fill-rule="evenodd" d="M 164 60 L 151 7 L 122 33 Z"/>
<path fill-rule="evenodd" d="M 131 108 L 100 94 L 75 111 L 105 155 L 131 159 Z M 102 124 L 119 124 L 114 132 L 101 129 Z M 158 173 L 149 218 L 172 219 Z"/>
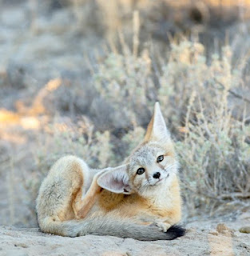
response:
<path fill-rule="evenodd" d="M 217 104 L 212 102 L 210 114 L 200 102 L 195 121 L 187 118 L 185 139 L 177 142 L 189 214 L 240 209 L 250 196 L 250 129 L 232 118 L 224 94 L 226 90 Z"/>

